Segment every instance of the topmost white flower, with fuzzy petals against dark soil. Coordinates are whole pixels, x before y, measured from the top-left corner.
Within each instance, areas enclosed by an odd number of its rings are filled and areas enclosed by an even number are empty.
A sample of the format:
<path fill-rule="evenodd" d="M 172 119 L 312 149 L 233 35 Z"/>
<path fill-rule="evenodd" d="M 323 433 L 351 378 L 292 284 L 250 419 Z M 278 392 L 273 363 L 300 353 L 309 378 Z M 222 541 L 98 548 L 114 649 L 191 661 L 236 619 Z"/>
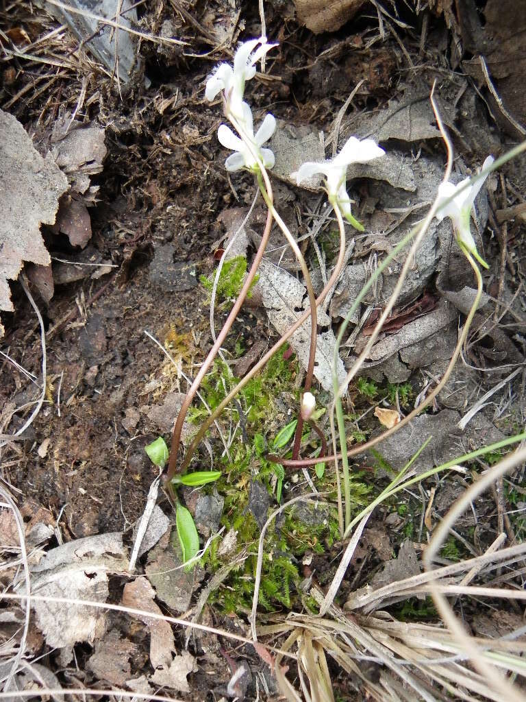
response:
<path fill-rule="evenodd" d="M 259 47 L 256 48 L 259 44 Z M 205 97 L 214 100 L 223 91 L 225 114 L 243 119 L 243 93 L 245 81 L 256 74 L 256 63 L 277 44 L 267 44 L 265 37 L 250 39 L 241 44 L 234 55 L 234 68 L 228 63 L 220 64 L 206 83 Z"/>

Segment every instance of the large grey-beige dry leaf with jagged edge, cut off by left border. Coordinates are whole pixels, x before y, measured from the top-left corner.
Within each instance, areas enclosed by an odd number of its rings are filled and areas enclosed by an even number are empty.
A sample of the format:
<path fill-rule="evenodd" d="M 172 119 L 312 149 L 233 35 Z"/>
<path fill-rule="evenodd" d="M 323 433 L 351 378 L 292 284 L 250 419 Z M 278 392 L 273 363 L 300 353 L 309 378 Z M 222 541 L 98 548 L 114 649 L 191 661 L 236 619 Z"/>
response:
<path fill-rule="evenodd" d="M 39 231 L 53 224 L 67 178 L 35 150 L 20 122 L 0 110 L 0 310 L 13 311 L 8 279 L 24 261 L 51 263 Z"/>

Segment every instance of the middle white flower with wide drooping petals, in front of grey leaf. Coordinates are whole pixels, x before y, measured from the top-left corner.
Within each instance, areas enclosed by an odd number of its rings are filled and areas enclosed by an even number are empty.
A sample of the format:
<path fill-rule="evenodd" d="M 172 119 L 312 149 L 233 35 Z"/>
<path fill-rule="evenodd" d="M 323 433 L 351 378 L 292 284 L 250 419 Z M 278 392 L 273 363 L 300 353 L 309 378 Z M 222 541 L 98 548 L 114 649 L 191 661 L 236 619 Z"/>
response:
<path fill-rule="evenodd" d="M 316 173 L 323 173 L 332 206 L 337 206 L 346 220 L 353 227 L 363 232 L 362 225 L 351 214 L 351 203 L 346 190 L 347 166 L 350 164 L 365 164 L 367 161 L 384 156 L 384 154 L 384 150 L 377 145 L 375 140 L 364 139 L 360 141 L 356 137 L 351 136 L 334 159 L 323 161 L 320 164 L 312 161 L 302 164 L 296 174 L 297 184 L 299 185 L 302 180 L 311 178 Z"/>

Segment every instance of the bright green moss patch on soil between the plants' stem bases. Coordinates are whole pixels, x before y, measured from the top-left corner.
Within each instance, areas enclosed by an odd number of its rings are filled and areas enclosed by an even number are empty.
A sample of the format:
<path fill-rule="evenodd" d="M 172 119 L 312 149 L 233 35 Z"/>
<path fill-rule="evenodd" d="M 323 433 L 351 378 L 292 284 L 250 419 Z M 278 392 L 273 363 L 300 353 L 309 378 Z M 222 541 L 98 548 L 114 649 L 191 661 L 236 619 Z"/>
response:
<path fill-rule="evenodd" d="M 225 613 L 248 612 L 252 607 L 260 532 L 249 508 L 250 483 L 253 479 L 261 481 L 276 501 L 280 482 L 285 489 L 291 477 L 281 465 L 265 458 L 267 451 L 272 451 L 281 430 L 294 418 L 293 414 L 283 411 L 284 406 L 294 408 L 299 402 L 299 393 L 290 392 L 292 380 L 297 373 L 297 362 L 284 359 L 284 351 L 285 348 L 280 350 L 264 371 L 250 380 L 239 393 L 238 402 L 232 402 L 221 417 L 224 426 L 231 426 L 232 430 L 239 424 L 229 446 L 230 459 L 216 455 L 214 461 L 214 469 L 222 471 L 216 484 L 217 490 L 224 496 L 222 526 L 227 531 L 237 531 L 236 556 L 241 557 L 239 564 L 231 570 L 222 585 L 210 595 L 210 603 Z M 203 380 L 201 394 L 208 406 L 215 409 L 237 383 L 229 366 L 217 360 Z M 202 403 L 195 403 L 189 411 L 189 420 L 196 425 L 206 416 L 208 411 Z M 283 432 L 281 436 L 283 437 Z M 280 451 L 289 456 L 293 435 L 285 438 L 287 440 Z M 303 439 L 302 451 L 305 455 L 318 448 L 319 441 L 308 425 L 304 428 Z M 321 479 L 316 478 L 313 470 L 311 475 L 320 491 L 326 493 L 329 499 L 336 498 L 332 470 L 326 471 Z M 356 511 L 367 504 L 372 491 L 362 478 L 360 473 L 355 473 L 351 483 L 351 496 Z M 302 579 L 299 571 L 301 559 L 306 552 L 324 552 L 339 538 L 335 509 L 325 508 L 319 519 L 302 521 L 299 516 L 300 512 L 294 508 L 285 510 L 283 517 L 275 520 L 267 530 L 259 602 L 269 611 L 306 606 L 306 597 L 299 589 Z M 203 564 L 211 573 L 224 565 L 224 559 L 217 555 L 217 548 L 218 540 L 213 542 L 203 557 Z M 317 611 L 316 608 L 314 611 Z"/>

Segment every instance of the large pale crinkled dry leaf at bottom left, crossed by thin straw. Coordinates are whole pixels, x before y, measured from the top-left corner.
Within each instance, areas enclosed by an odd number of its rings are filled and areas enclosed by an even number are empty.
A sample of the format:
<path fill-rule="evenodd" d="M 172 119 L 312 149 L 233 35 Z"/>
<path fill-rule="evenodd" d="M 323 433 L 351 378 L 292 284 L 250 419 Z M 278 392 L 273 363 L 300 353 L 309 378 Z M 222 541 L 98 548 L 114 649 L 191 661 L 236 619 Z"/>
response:
<path fill-rule="evenodd" d="M 70 541 L 48 551 L 32 567 L 31 591 L 50 597 L 106 602 L 109 573 L 126 570 L 128 559 L 122 534 L 101 534 Z M 25 592 L 23 579 L 16 585 Z M 62 602 L 32 601 L 36 623 L 49 646 L 72 647 L 76 642 L 93 643 L 104 631 L 102 609 Z"/>

